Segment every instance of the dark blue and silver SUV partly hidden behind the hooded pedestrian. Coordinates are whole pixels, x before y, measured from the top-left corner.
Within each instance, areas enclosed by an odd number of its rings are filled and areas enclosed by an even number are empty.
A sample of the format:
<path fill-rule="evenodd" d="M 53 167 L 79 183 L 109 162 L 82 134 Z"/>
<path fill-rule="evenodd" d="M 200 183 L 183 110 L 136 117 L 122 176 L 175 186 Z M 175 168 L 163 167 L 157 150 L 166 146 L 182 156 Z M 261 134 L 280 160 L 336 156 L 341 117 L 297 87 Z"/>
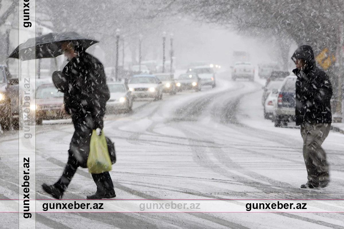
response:
<path fill-rule="evenodd" d="M 295 121 L 296 79 L 296 76 L 288 76 L 282 82 L 277 96 L 277 107 L 273 114 L 275 127 L 288 125 L 289 121 Z"/>

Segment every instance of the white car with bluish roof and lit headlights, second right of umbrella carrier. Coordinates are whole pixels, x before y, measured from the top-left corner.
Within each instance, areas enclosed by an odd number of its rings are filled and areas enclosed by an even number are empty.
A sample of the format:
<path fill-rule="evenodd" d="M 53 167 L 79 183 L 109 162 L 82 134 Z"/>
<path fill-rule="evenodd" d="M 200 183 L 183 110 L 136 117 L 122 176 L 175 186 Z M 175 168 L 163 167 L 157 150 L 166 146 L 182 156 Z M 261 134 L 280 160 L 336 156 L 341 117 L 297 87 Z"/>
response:
<path fill-rule="evenodd" d="M 129 79 L 128 87 L 134 98 L 162 99 L 164 85 L 155 75 L 135 75 Z"/>

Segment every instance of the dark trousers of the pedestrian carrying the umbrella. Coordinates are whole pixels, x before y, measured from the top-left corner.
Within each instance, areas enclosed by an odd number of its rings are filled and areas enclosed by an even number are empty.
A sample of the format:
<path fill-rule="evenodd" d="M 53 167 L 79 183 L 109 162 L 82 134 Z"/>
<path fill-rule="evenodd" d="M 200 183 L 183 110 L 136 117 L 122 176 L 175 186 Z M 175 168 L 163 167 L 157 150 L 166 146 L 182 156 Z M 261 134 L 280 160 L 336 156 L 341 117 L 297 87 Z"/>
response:
<path fill-rule="evenodd" d="M 68 150 L 68 162 L 61 178 L 55 183 L 55 186 L 63 192 L 71 182 L 77 168 L 79 166 L 83 168 L 87 167 L 92 128 L 84 121 L 73 119 L 75 131 Z M 97 185 L 97 192 L 110 192 L 114 190 L 114 184 L 112 183 L 109 172 L 92 174 L 92 178 Z"/>

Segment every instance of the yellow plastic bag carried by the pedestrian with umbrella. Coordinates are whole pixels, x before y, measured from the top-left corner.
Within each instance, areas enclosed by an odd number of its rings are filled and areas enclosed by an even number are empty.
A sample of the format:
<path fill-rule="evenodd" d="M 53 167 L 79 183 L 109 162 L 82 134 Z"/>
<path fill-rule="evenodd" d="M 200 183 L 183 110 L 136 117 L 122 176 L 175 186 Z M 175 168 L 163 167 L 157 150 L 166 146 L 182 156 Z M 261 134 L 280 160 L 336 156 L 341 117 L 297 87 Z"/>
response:
<path fill-rule="evenodd" d="M 111 165 L 104 131 L 97 135 L 96 130 L 93 130 L 87 158 L 88 171 L 96 174 L 111 171 Z"/>

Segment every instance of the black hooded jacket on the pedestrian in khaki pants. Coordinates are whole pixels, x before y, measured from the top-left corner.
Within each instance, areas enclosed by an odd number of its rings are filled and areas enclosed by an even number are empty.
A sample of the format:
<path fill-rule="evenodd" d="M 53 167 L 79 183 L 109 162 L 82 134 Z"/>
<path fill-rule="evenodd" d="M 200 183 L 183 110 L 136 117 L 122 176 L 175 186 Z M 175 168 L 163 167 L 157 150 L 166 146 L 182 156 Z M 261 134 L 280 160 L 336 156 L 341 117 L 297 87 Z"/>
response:
<path fill-rule="evenodd" d="M 332 85 L 327 74 L 316 66 L 311 46 L 300 46 L 292 59 L 303 59 L 304 70 L 294 69 L 296 80 L 296 125 L 331 123 Z"/>

